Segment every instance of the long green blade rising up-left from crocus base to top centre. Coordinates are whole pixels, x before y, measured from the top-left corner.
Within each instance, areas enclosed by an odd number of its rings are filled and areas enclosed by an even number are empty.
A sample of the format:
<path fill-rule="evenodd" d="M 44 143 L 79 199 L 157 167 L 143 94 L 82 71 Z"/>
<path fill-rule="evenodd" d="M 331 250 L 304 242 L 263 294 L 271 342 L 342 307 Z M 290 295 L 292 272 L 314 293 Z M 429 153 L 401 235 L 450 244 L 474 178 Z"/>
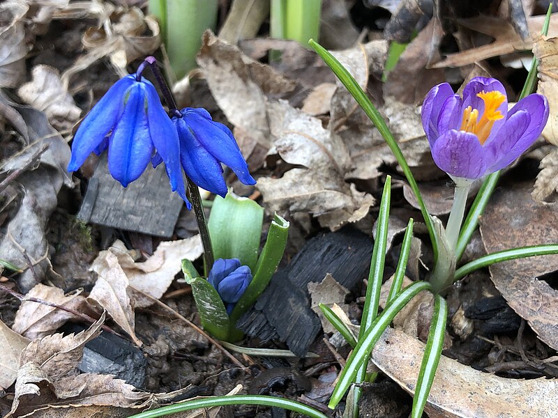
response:
<path fill-rule="evenodd" d="M 343 67 L 333 55 L 331 55 L 315 40 L 310 40 L 308 43 L 310 43 L 310 46 L 315 50 L 315 52 L 324 60 L 329 68 L 331 68 L 331 70 L 335 73 L 335 76 L 340 80 L 340 82 L 342 82 L 345 88 L 347 88 L 349 93 L 351 93 L 354 100 L 359 103 L 365 114 L 368 118 L 370 118 L 370 121 L 372 121 L 372 123 L 376 126 L 378 132 L 382 134 L 382 137 L 386 141 L 386 144 L 389 146 L 393 155 L 395 155 L 395 159 L 398 161 L 403 173 L 405 173 L 407 181 L 409 182 L 409 187 L 411 187 L 416 196 L 418 206 L 421 208 L 421 213 L 423 214 L 424 222 L 428 229 L 428 235 L 430 235 L 430 241 L 432 242 L 432 249 L 434 251 L 435 258 L 437 258 L 438 246 L 434 230 L 434 222 L 432 222 L 432 218 L 430 217 L 428 209 L 424 204 L 421 192 L 418 190 L 418 185 L 413 177 L 413 173 L 411 172 L 411 169 L 409 169 L 409 164 L 407 164 L 407 161 L 405 160 L 397 141 L 395 141 L 393 134 L 391 134 L 388 125 L 386 125 L 384 118 L 382 118 L 382 115 L 379 114 L 379 111 L 376 109 L 374 104 L 372 104 L 361 86 L 359 86 L 359 83 L 356 82 L 347 69 Z"/>

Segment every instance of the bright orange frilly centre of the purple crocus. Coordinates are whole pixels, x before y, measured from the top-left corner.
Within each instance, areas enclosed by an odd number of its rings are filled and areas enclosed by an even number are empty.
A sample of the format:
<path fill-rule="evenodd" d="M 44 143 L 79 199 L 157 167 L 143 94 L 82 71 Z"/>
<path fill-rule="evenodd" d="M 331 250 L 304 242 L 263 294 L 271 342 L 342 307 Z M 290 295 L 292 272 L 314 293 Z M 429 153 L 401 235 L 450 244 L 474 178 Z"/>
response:
<path fill-rule="evenodd" d="M 499 91 L 489 91 L 488 93 L 481 91 L 477 96 L 484 101 L 483 115 L 478 119 L 478 110 L 472 109 L 470 106 L 467 107 L 467 109 L 463 111 L 460 130 L 475 134 L 478 141 L 484 144 L 490 135 L 492 125 L 494 125 L 495 121 L 504 118 L 504 115 L 498 110 L 498 107 L 506 100 L 506 96 Z"/>

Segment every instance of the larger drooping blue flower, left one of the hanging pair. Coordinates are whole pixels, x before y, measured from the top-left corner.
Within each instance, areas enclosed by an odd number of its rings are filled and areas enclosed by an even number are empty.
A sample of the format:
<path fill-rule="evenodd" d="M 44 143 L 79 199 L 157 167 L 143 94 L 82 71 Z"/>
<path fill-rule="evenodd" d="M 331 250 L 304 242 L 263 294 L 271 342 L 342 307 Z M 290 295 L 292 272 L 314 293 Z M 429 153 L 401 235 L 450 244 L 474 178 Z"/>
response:
<path fill-rule="evenodd" d="M 79 169 L 92 152 L 100 155 L 107 148 L 109 172 L 123 187 L 139 178 L 151 160 L 165 162 L 172 191 L 190 208 L 178 134 L 155 87 L 142 76 L 119 79 L 85 116 L 73 138 L 68 171 Z"/>

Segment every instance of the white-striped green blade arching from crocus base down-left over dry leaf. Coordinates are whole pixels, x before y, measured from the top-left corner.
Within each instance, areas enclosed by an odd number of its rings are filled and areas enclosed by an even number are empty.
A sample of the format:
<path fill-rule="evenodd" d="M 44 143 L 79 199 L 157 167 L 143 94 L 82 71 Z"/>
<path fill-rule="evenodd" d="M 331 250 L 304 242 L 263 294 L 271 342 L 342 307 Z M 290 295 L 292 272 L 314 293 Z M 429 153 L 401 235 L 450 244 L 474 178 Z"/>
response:
<path fill-rule="evenodd" d="M 333 389 L 333 394 L 331 394 L 331 400 L 329 401 L 329 408 L 333 409 L 341 401 L 347 389 L 352 385 L 356 373 L 362 369 L 362 365 L 368 362 L 368 357 L 372 353 L 372 349 L 375 343 L 382 336 L 382 332 L 389 326 L 395 315 L 405 307 L 409 300 L 416 296 L 421 291 L 431 290 L 432 286 L 426 281 L 416 281 L 413 284 L 407 286 L 403 289 L 401 293 L 395 297 L 395 299 L 387 304 L 386 309 L 379 315 L 375 321 L 370 324 L 370 328 L 364 333 L 356 347 L 353 350 L 352 355 L 347 359 L 347 364 L 342 370 L 337 385 Z"/>

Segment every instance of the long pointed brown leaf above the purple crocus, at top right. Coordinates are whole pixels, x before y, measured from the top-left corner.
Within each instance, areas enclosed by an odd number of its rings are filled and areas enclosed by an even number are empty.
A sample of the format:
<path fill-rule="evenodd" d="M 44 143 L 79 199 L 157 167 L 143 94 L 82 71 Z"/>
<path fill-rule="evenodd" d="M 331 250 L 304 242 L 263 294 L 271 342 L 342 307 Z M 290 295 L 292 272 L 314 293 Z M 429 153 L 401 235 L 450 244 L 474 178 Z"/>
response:
<path fill-rule="evenodd" d="M 535 36 L 541 33 L 545 15 L 527 17 L 529 32 Z M 558 36 L 558 15 L 550 15 L 550 26 L 548 26 L 548 36 Z M 497 17 L 479 16 L 474 19 L 460 20 L 460 24 L 485 35 L 492 36 L 495 41 L 477 48 L 467 49 L 456 54 L 450 54 L 442 61 L 432 65 L 432 68 L 462 67 L 505 54 L 512 54 L 518 50 L 530 50 L 533 48 L 532 40 L 522 40 L 513 26 L 506 20 Z"/>

